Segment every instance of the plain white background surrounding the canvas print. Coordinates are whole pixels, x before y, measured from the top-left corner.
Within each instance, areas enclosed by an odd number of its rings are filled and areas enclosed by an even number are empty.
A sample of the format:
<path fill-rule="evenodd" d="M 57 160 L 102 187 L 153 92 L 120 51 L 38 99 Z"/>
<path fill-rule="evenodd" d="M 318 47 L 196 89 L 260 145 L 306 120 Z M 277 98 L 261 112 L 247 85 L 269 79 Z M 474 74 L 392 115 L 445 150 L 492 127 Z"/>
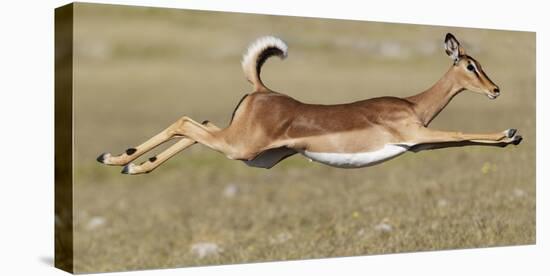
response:
<path fill-rule="evenodd" d="M 549 59 L 543 1 L 89 1 L 262 14 L 537 32 L 537 245 L 164 269 L 109 275 L 537 275 L 547 270 Z M 53 268 L 53 9 L 66 1 L 1 4 L 0 181 L 2 275 L 63 275 Z M 465 12 L 463 12 L 465 11 Z M 31 123 L 32 133 L 28 124 Z M 545 231 L 546 229 L 546 231 Z M 546 234 L 545 234 L 546 233 Z"/>

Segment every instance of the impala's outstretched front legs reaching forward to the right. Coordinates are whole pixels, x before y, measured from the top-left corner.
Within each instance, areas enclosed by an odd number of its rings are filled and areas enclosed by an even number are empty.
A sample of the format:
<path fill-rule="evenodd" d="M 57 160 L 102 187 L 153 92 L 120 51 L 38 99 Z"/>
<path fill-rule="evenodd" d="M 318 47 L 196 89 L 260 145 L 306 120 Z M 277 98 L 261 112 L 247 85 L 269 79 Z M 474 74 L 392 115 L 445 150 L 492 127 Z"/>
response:
<path fill-rule="evenodd" d="M 411 151 L 471 145 L 505 147 L 509 144 L 518 145 L 523 140 L 523 137 L 517 134 L 516 129 L 507 129 L 497 133 L 471 134 L 422 128 L 416 136 L 415 145 Z"/>

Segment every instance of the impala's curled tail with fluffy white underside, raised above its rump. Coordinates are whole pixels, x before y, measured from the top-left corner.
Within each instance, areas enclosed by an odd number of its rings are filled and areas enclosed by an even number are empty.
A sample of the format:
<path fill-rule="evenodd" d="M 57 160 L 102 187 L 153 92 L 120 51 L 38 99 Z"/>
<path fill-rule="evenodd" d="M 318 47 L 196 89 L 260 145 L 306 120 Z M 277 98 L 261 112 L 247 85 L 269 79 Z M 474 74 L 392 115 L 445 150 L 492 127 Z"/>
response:
<path fill-rule="evenodd" d="M 260 71 L 264 62 L 271 56 L 279 56 L 284 59 L 287 54 L 288 46 L 286 43 L 274 36 L 260 37 L 250 44 L 243 55 L 241 65 L 246 79 L 254 85 L 255 91 L 269 90 L 260 79 Z"/>

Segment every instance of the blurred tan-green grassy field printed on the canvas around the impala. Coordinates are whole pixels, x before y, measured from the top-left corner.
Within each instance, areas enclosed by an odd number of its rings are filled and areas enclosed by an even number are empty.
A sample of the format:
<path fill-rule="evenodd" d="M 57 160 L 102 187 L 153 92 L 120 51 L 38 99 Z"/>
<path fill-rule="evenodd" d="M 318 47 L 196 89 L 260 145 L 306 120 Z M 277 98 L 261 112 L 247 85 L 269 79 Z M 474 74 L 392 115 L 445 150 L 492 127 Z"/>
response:
<path fill-rule="evenodd" d="M 535 242 L 532 33 L 85 4 L 75 24 L 77 272 Z M 269 87 L 343 103 L 429 87 L 451 64 L 449 31 L 502 95 L 464 93 L 432 127 L 514 127 L 520 146 L 407 153 L 355 170 L 300 156 L 255 169 L 200 145 L 148 175 L 95 161 L 182 115 L 226 125 L 250 92 L 239 61 L 258 36 L 290 46 L 288 60 L 264 67 Z"/>

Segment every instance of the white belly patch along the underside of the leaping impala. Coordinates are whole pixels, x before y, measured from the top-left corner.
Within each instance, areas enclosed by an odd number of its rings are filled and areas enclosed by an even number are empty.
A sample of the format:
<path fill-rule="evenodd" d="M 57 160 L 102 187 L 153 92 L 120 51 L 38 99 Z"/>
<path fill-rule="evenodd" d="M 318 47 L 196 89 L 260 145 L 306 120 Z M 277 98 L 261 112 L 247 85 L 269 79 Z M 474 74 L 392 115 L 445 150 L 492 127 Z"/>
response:
<path fill-rule="evenodd" d="M 359 153 L 327 153 L 303 151 L 313 161 L 339 168 L 361 168 L 376 165 L 406 152 L 411 144 L 387 144 L 383 148 Z"/>

